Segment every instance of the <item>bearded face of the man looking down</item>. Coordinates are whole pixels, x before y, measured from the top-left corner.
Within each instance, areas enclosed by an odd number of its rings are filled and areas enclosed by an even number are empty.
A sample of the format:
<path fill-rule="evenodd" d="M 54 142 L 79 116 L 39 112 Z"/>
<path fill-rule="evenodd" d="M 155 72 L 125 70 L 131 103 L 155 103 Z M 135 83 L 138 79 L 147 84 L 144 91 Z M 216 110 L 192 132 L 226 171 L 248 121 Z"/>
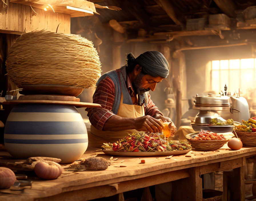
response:
<path fill-rule="evenodd" d="M 137 77 L 133 80 L 133 88 L 137 94 L 143 94 L 149 90 L 155 91 L 157 83 L 161 82 L 163 77 L 152 77 L 151 75 L 144 75 L 139 73 Z"/>

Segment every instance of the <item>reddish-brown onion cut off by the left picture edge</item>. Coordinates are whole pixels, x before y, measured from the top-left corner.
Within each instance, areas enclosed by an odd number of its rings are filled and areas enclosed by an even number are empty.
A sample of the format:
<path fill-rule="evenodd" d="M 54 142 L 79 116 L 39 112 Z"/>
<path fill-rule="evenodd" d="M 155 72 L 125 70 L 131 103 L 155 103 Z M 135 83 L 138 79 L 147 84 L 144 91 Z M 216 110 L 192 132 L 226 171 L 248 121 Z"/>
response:
<path fill-rule="evenodd" d="M 0 167 L 0 189 L 10 188 L 15 181 L 16 177 L 11 169 Z"/>

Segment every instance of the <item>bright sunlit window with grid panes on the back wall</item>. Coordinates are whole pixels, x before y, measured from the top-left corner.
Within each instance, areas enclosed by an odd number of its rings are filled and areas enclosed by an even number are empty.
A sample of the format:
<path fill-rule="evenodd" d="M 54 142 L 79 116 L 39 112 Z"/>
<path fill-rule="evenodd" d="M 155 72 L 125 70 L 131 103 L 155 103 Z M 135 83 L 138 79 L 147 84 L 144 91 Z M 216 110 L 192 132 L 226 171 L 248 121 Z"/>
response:
<path fill-rule="evenodd" d="M 246 93 L 247 89 L 256 87 L 256 59 L 215 60 L 210 64 L 211 90 L 224 92 L 227 84 L 227 91 L 233 95 L 239 89 Z"/>

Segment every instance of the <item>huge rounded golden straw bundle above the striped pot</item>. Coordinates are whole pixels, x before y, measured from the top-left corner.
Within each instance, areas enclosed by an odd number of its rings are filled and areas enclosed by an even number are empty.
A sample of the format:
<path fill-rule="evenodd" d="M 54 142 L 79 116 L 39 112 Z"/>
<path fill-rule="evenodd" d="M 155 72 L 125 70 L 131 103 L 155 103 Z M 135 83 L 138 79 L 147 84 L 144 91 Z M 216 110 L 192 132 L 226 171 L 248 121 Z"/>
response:
<path fill-rule="evenodd" d="M 16 39 L 6 60 L 11 81 L 22 85 L 95 86 L 101 63 L 93 43 L 79 35 L 32 31 Z"/>

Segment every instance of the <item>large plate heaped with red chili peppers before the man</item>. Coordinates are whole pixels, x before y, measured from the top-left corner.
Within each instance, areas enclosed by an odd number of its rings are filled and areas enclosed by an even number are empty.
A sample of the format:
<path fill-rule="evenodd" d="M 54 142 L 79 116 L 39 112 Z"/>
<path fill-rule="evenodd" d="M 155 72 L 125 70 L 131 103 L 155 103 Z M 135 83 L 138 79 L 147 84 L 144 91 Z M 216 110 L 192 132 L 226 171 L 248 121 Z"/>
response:
<path fill-rule="evenodd" d="M 161 133 L 139 131 L 114 143 L 103 143 L 105 154 L 118 156 L 167 156 L 185 154 L 191 150 L 188 141 L 168 141 Z"/>

